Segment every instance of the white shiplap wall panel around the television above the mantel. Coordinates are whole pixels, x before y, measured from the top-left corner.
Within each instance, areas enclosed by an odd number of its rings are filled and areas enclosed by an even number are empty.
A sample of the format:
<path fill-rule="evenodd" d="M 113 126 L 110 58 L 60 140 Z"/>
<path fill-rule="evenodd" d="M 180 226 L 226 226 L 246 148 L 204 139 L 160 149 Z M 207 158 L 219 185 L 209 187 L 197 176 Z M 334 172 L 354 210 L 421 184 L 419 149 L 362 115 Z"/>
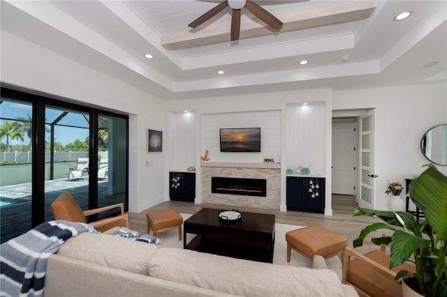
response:
<path fill-rule="evenodd" d="M 260 153 L 221 153 L 221 128 L 261 128 Z M 202 155 L 210 151 L 212 162 L 263 162 L 281 160 L 281 111 L 229 112 L 202 115 Z"/>

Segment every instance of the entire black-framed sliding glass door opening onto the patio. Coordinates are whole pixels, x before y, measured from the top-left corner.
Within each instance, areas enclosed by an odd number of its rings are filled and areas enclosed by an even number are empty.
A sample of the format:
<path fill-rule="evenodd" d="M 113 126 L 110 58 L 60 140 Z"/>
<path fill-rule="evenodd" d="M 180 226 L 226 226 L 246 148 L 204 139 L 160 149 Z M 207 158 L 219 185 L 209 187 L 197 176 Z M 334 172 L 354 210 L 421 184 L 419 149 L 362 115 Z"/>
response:
<path fill-rule="evenodd" d="M 62 192 L 128 209 L 128 116 L 1 88 L 0 127 L 1 243 L 54 220 Z"/>

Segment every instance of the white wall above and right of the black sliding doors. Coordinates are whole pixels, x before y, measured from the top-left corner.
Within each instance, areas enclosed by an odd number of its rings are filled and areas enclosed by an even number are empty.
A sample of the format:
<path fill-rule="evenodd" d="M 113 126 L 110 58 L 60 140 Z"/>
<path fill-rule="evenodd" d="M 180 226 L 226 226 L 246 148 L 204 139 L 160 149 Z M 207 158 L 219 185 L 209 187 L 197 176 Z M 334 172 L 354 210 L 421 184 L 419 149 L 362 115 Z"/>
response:
<path fill-rule="evenodd" d="M 129 114 L 129 210 L 166 199 L 167 153 L 146 153 L 146 129 L 166 128 L 162 100 L 3 30 L 0 71 L 1 82 Z"/>

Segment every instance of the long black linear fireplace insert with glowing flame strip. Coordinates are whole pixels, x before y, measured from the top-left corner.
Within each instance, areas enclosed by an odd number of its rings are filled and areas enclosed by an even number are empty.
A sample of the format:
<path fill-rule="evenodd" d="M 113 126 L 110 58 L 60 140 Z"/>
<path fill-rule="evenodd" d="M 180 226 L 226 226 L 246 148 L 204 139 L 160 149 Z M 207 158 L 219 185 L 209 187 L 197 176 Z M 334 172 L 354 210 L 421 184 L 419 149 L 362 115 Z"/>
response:
<path fill-rule="evenodd" d="M 211 192 L 266 197 L 267 180 L 258 178 L 212 177 Z"/>

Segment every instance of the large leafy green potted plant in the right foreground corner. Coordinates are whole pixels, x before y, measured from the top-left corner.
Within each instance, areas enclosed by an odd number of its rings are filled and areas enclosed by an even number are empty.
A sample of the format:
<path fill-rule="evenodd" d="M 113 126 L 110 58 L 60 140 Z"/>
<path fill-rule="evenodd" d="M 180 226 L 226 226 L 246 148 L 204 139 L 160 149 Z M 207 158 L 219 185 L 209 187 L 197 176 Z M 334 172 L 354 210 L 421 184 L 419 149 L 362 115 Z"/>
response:
<path fill-rule="evenodd" d="M 427 166 L 425 172 L 409 185 L 409 195 L 423 211 L 425 221 L 416 222 L 413 215 L 402 211 L 357 208 L 354 216 L 376 215 L 385 223 L 376 222 L 362 229 L 353 246 L 361 246 L 365 236 L 372 231 L 394 231 L 393 236 L 372 238 L 372 242 L 390 245 L 390 269 L 405 261 L 415 264 L 416 273 L 409 275 L 408 271 L 400 271 L 396 280 L 406 275 L 413 276 L 418 284 L 418 288 L 413 290 L 423 296 L 447 296 L 447 176 L 434 165 Z"/>

